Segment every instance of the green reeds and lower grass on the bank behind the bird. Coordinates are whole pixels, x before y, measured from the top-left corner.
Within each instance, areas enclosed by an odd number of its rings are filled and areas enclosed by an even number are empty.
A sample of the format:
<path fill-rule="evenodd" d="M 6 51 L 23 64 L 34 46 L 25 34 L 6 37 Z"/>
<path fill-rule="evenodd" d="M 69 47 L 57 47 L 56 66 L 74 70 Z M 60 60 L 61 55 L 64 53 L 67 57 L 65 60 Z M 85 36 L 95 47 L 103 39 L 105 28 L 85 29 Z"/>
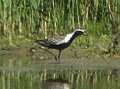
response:
<path fill-rule="evenodd" d="M 83 28 L 88 33 L 88 37 L 82 39 L 87 48 L 96 40 L 107 40 L 106 53 L 116 54 L 119 9 L 120 0 L 1 0 L 0 39 L 13 45 L 21 35 L 48 38 Z M 78 40 L 76 44 L 80 42 Z"/>

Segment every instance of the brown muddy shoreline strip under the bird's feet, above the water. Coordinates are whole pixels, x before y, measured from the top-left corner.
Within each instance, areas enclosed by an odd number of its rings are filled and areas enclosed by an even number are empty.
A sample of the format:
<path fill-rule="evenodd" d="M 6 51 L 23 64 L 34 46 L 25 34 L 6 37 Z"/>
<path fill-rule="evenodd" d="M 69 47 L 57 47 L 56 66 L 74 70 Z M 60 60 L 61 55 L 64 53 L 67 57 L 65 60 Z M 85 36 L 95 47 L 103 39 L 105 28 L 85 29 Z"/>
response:
<path fill-rule="evenodd" d="M 35 53 L 29 52 L 30 47 L 11 48 L 0 50 L 0 70 L 37 70 L 41 68 L 46 70 L 81 70 L 81 69 L 119 69 L 120 56 L 108 57 L 106 55 L 89 55 L 84 49 L 65 49 L 61 54 L 60 63 L 54 60 L 54 57 L 43 50 L 37 50 Z M 51 50 L 57 53 L 56 50 Z M 77 55 L 76 55 L 77 54 Z M 95 55 L 95 56 L 94 56 Z"/>

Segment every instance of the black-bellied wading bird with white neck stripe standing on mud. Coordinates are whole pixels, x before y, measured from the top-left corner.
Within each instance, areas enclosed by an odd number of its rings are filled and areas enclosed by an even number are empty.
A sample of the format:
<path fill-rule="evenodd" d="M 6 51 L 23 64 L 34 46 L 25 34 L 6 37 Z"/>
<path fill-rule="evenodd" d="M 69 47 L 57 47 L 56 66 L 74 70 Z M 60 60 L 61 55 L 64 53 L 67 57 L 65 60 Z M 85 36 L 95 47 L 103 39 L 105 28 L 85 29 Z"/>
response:
<path fill-rule="evenodd" d="M 46 50 L 47 52 L 49 52 L 50 54 L 52 54 L 55 57 L 56 61 L 60 62 L 60 55 L 61 52 L 69 47 L 72 43 L 72 41 L 81 35 L 85 35 L 85 31 L 83 29 L 75 29 L 74 32 L 69 33 L 65 36 L 59 36 L 59 38 L 61 38 L 61 40 L 55 39 L 55 38 L 50 38 L 50 39 L 44 39 L 44 40 L 36 40 L 36 43 L 39 45 L 42 45 L 44 47 L 47 48 L 51 48 L 51 49 L 56 49 L 58 50 L 58 55 L 54 55 L 52 52 Z"/>

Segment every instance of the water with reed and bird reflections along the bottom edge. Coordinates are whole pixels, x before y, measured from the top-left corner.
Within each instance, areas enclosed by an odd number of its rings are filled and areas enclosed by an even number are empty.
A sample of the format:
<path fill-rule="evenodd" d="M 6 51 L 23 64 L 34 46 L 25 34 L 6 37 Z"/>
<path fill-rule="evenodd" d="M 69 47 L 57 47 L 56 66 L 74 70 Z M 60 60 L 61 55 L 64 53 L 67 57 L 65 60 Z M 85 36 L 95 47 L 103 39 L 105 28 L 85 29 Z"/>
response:
<path fill-rule="evenodd" d="M 0 89 L 120 89 L 120 71 L 1 70 Z"/>

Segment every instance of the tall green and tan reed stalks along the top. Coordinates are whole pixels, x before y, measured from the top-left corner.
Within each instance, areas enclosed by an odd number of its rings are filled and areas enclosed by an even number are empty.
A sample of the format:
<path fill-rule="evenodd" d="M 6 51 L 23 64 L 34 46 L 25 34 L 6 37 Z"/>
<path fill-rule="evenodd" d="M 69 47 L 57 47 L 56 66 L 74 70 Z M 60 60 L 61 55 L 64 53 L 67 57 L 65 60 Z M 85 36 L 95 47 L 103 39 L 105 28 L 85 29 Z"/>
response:
<path fill-rule="evenodd" d="M 116 20 L 119 20 L 119 3 L 119 0 L 1 0 L 1 33 L 12 36 L 20 33 L 27 35 L 38 30 L 47 36 L 48 30 L 56 34 L 62 31 L 62 28 L 66 31 L 84 27 L 89 24 L 88 21 L 105 20 L 109 24 L 113 18 L 108 14 L 110 11 L 117 16 Z M 67 27 L 69 28 L 66 29 Z"/>

